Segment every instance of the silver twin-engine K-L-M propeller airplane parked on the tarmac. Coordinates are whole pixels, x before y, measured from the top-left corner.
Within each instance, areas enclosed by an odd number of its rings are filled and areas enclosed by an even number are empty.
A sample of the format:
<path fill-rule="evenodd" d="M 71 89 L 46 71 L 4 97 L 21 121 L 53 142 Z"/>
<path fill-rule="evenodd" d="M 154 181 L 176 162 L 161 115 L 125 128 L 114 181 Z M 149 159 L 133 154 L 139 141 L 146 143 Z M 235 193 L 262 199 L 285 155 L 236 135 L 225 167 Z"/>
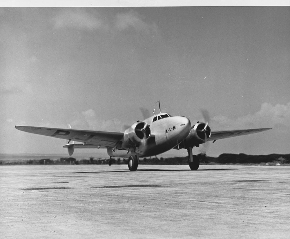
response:
<path fill-rule="evenodd" d="M 64 128 L 46 128 L 35 126 L 15 126 L 16 129 L 28 133 L 45 135 L 59 139 L 68 140 L 63 148 L 68 149 L 68 154 L 73 155 L 75 148 L 106 148 L 110 156 L 109 165 L 112 164 L 112 157 L 124 157 L 128 159 L 130 171 L 136 171 L 140 157 L 151 157 L 162 154 L 171 149 L 187 149 L 189 168 L 197 170 L 200 165 L 197 155 L 193 155 L 193 147 L 199 147 L 208 141 L 213 143 L 218 139 L 248 135 L 262 132 L 271 128 L 255 128 L 242 130 L 212 131 L 209 127 L 209 115 L 202 111 L 206 122 L 197 122 L 191 125 L 190 120 L 185 116 L 171 116 L 168 113 L 161 113 L 160 102 L 159 112 L 137 121 L 123 132 L 102 131 L 102 130 L 77 130 Z M 156 103 L 157 103 L 156 102 Z M 81 144 L 75 144 L 75 141 Z"/>

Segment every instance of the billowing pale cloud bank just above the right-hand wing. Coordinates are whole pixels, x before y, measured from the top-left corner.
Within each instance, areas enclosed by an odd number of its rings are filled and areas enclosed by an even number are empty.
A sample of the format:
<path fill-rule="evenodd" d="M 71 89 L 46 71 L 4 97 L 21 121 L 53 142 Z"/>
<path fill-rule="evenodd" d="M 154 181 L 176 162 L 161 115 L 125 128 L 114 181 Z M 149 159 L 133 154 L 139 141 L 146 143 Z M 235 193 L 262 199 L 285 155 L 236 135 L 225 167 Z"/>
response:
<path fill-rule="evenodd" d="M 212 124 L 215 127 L 222 126 L 229 129 L 249 128 L 249 127 L 270 127 L 289 128 L 290 122 L 290 102 L 286 105 L 263 103 L 261 109 L 238 119 L 230 119 L 226 116 L 218 115 L 213 117 Z"/>

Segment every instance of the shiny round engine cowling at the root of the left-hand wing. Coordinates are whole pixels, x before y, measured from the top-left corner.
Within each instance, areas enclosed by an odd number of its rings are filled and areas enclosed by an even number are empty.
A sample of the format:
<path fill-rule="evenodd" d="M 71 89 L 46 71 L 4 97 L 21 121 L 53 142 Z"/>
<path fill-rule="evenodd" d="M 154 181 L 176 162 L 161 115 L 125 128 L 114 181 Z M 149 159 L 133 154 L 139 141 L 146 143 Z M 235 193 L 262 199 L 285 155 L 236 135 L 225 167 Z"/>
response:
<path fill-rule="evenodd" d="M 144 139 L 148 139 L 151 136 L 151 130 L 148 124 L 145 122 L 137 122 L 124 132 L 124 141 L 122 148 L 130 148 L 136 146 Z"/>

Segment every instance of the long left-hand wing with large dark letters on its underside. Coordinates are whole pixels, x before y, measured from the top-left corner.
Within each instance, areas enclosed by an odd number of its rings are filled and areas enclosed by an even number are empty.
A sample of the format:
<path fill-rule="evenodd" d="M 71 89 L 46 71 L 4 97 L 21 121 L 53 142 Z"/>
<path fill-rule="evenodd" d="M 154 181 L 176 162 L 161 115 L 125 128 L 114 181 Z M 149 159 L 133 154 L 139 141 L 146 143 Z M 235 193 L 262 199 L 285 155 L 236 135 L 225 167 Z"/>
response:
<path fill-rule="evenodd" d="M 46 128 L 34 126 L 15 126 L 16 129 L 38 135 L 67 139 L 90 145 L 114 147 L 123 138 L 124 133 L 112 131 L 77 130 L 63 128 Z"/>

